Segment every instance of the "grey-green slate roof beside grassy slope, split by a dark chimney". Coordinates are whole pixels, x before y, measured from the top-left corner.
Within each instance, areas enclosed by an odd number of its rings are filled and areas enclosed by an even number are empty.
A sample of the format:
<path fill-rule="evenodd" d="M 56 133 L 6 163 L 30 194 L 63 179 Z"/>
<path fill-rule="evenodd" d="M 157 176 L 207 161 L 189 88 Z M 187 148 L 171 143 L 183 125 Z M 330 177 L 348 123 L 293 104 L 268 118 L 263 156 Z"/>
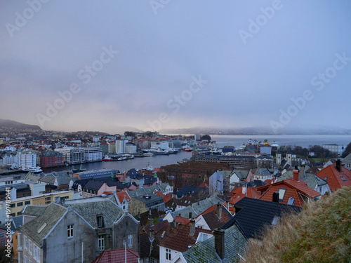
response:
<path fill-rule="evenodd" d="M 225 258 L 223 260 L 216 253 L 214 236 L 193 245 L 190 249 L 183 252 L 183 257 L 185 257 L 187 263 L 237 262 L 237 252 L 244 256 L 246 245 L 247 239 L 244 231 L 240 229 L 239 224 L 234 224 L 232 227 L 225 229 Z"/>

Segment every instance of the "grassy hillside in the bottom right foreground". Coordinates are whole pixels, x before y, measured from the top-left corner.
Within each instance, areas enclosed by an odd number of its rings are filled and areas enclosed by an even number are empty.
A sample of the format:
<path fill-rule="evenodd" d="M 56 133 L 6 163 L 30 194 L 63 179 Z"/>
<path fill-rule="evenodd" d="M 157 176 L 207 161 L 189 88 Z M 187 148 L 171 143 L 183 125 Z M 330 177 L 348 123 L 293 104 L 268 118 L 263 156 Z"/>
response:
<path fill-rule="evenodd" d="M 351 262 L 351 187 L 339 189 L 250 242 L 246 262 Z"/>

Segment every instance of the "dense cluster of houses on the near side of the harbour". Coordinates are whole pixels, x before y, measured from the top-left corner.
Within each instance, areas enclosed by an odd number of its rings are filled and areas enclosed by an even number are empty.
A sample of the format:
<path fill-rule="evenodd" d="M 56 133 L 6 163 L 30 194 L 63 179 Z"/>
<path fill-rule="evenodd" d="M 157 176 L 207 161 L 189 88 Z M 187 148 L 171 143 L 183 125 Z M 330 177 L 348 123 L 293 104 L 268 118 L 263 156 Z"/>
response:
<path fill-rule="evenodd" d="M 19 189 L 13 193 L 15 206 L 27 198 L 12 215 L 14 261 L 236 262 L 244 260 L 249 239 L 260 241 L 263 227 L 274 227 L 282 213 L 299 213 L 305 203 L 351 187 L 351 171 L 340 160 L 322 167 L 292 167 L 282 160 L 277 168 L 220 163 L 213 169 L 196 161 L 170 167 L 169 173 L 166 168 L 29 173 L 33 186 L 72 194 L 36 203 L 33 196 L 15 196 Z M 173 187 L 162 180 L 184 174 L 200 176 L 201 182 L 183 180 Z"/>

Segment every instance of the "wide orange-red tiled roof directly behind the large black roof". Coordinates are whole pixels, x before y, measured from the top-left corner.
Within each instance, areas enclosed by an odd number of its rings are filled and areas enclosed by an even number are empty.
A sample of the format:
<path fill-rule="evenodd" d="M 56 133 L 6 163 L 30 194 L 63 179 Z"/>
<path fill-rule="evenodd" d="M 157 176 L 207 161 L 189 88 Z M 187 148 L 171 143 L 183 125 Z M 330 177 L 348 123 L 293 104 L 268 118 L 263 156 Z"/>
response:
<path fill-rule="evenodd" d="M 293 179 L 287 179 L 280 182 L 276 182 L 274 184 L 268 184 L 263 187 L 258 187 L 258 191 L 261 191 L 262 195 L 260 199 L 266 201 L 272 201 L 273 193 L 279 191 L 279 189 L 286 189 L 284 198 L 279 203 L 288 203 L 289 198 L 292 197 L 294 199 L 293 205 L 303 206 L 305 203 L 300 194 L 307 196 L 308 198 L 316 198 L 321 194 L 314 189 L 311 189 L 307 186 L 307 183 L 303 181 L 296 181 Z"/>

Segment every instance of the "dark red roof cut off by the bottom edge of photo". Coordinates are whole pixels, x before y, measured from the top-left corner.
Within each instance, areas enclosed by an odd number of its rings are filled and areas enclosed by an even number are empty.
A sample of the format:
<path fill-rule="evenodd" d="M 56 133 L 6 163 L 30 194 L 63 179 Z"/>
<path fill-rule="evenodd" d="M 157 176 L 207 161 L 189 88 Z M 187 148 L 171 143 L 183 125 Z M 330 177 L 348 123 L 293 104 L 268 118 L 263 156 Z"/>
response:
<path fill-rule="evenodd" d="M 126 249 L 127 254 L 127 263 L 138 263 L 138 252 Z M 105 250 L 98 257 L 95 258 L 93 263 L 114 263 L 114 262 L 125 262 L 125 250 L 124 248 L 114 249 L 114 250 Z"/>

